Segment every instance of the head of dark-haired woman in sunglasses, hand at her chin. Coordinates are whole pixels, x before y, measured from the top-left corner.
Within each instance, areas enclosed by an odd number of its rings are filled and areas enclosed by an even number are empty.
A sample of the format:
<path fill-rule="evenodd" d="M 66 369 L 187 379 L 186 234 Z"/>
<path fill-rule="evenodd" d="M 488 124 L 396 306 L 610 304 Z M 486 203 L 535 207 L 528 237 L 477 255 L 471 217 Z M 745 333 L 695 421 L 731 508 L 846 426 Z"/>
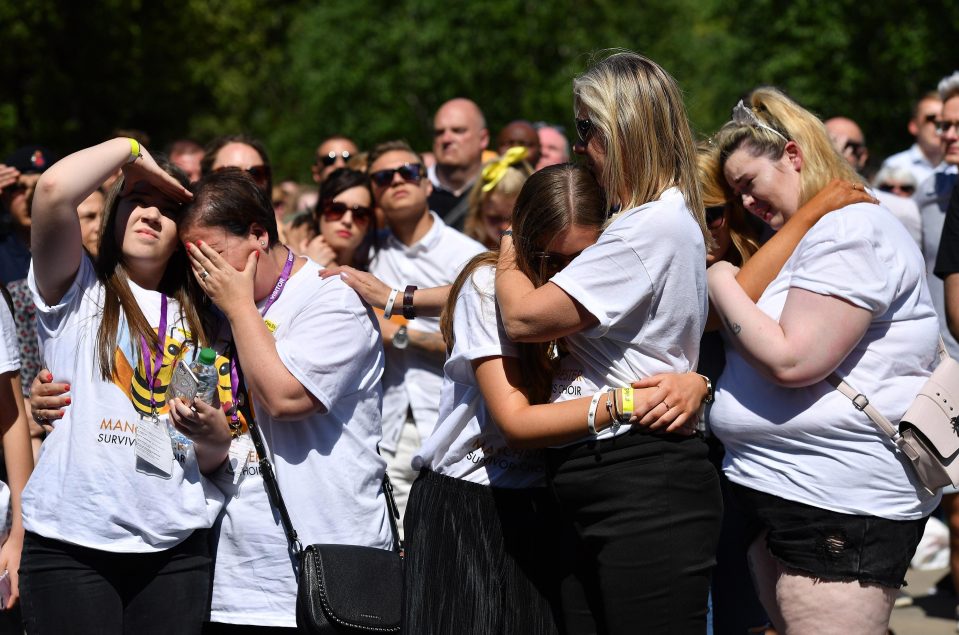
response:
<path fill-rule="evenodd" d="M 370 180 L 349 168 L 333 171 L 320 187 L 316 235 L 302 253 L 324 267 L 349 265 L 365 270 L 376 242 L 376 216 Z"/>

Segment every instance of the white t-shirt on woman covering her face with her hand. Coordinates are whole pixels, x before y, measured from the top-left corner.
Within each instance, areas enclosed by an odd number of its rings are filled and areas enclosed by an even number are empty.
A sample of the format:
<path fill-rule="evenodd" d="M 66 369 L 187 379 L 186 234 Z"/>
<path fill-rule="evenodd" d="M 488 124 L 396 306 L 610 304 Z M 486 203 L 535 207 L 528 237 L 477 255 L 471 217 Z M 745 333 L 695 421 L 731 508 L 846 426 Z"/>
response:
<path fill-rule="evenodd" d="M 386 463 L 376 452 L 380 333 L 356 293 L 339 278 L 323 280 L 319 270 L 309 261 L 293 274 L 266 321 L 286 369 L 329 411 L 278 421 L 254 394 L 255 416 L 300 541 L 388 549 L 392 533 L 381 489 Z M 296 579 L 286 534 L 252 454 L 238 488 L 228 468 L 214 475 L 231 496 L 217 527 L 210 619 L 295 626 Z"/>

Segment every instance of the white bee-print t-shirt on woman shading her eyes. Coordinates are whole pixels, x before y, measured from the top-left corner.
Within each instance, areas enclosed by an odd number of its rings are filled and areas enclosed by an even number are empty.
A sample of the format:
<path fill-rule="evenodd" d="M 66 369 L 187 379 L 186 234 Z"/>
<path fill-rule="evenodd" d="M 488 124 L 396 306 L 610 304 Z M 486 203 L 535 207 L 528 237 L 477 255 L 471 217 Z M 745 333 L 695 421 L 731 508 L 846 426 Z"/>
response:
<path fill-rule="evenodd" d="M 90 260 L 83 257 L 76 279 L 55 306 L 40 297 L 32 267 L 28 281 L 44 361 L 58 381 L 71 385 L 73 403 L 43 442 L 24 489 L 24 527 L 83 547 L 134 553 L 169 549 L 195 529 L 212 526 L 223 494 L 201 477 L 192 452 L 172 462 L 169 478 L 137 469 L 136 428 L 150 411 L 140 344 L 131 341 L 121 319 L 116 379 L 101 379 L 96 339 L 105 288 Z M 149 324 L 159 328 L 160 294 L 132 282 L 130 290 Z M 166 387 L 183 344 L 191 339 L 172 298 L 167 316 L 160 388 L 154 390 L 164 425 Z"/>

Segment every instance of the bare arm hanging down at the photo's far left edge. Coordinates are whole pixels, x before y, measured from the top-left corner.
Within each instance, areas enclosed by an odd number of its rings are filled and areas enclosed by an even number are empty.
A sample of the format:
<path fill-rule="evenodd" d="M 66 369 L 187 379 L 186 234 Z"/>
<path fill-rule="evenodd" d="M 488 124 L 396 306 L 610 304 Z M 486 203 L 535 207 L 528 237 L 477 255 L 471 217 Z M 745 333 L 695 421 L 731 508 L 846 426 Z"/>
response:
<path fill-rule="evenodd" d="M 10 536 L 0 547 L 0 570 L 10 572 L 12 592 L 6 609 L 12 608 L 20 596 L 20 552 L 23 548 L 23 514 L 21 496 L 33 471 L 33 449 L 27 413 L 21 397 L 20 373 L 11 371 L 0 375 L 0 434 L 3 436 L 3 460 L 10 486 Z"/>

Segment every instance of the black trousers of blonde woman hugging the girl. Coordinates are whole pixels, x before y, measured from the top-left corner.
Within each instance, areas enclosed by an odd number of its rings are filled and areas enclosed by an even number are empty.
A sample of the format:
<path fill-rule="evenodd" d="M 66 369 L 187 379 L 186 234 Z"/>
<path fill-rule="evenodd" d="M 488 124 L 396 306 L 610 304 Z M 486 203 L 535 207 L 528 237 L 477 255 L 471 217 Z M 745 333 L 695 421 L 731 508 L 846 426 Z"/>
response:
<path fill-rule="evenodd" d="M 705 633 L 722 497 L 703 440 L 636 430 L 550 449 L 547 463 L 572 525 L 568 633 Z"/>

